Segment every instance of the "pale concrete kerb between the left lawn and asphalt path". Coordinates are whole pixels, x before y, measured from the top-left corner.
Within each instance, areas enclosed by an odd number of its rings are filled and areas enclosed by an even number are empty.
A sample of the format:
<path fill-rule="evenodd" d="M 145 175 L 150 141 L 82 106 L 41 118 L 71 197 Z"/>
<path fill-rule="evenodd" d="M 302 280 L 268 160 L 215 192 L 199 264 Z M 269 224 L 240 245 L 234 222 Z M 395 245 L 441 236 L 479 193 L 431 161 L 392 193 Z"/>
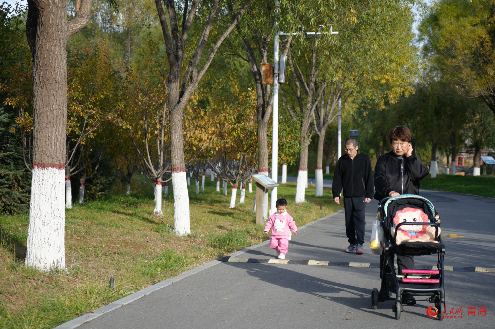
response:
<path fill-rule="evenodd" d="M 303 228 L 306 228 L 306 227 L 311 226 L 313 224 L 316 224 L 316 223 L 318 223 L 318 222 L 320 222 L 322 220 L 328 219 L 330 217 L 333 217 L 336 214 L 339 214 L 339 213 L 341 213 L 343 211 L 344 211 L 344 209 L 337 210 L 336 212 L 333 212 L 333 213 L 331 213 L 331 214 L 329 214 L 329 215 L 327 215 L 325 217 L 322 217 L 320 219 L 317 219 L 315 221 L 312 221 L 310 223 L 307 223 L 305 225 L 302 225 L 301 227 L 298 228 L 298 230 L 303 229 Z M 263 245 L 266 245 L 269 242 L 270 242 L 270 240 L 265 240 L 265 241 L 263 241 L 260 244 L 257 244 L 257 245 L 253 245 L 253 246 L 244 248 L 244 249 L 239 250 L 237 252 L 231 253 L 228 256 L 230 256 L 230 257 L 239 256 L 240 254 L 243 254 L 243 253 L 245 253 L 245 252 L 247 252 L 249 250 L 256 249 L 258 247 L 261 247 Z M 198 272 L 200 272 L 202 270 L 205 270 L 207 268 L 210 268 L 210 267 L 215 266 L 215 265 L 220 264 L 220 263 L 222 263 L 222 261 L 220 261 L 220 260 L 213 260 L 213 261 L 211 261 L 209 263 L 200 265 L 200 266 L 195 267 L 195 268 L 193 268 L 193 269 L 191 269 L 189 271 L 186 271 L 184 273 L 181 273 L 181 274 L 179 274 L 179 275 L 177 275 L 177 276 L 175 276 L 173 278 L 160 281 L 157 284 L 154 284 L 152 286 L 149 286 L 148 288 L 144 288 L 142 290 L 139 290 L 139 291 L 133 293 L 132 295 L 126 296 L 126 297 L 121 298 L 119 300 L 116 300 L 113 303 L 110 303 L 110 304 L 108 304 L 106 306 L 100 307 L 99 309 L 97 309 L 97 310 L 95 310 L 93 312 L 84 314 L 84 315 L 82 315 L 80 317 L 77 317 L 77 318 L 75 318 L 73 320 L 67 321 L 66 323 L 63 323 L 63 324 L 55 327 L 54 329 L 72 329 L 72 328 L 79 327 L 83 323 L 86 323 L 86 322 L 89 322 L 89 321 L 91 321 L 91 320 L 93 320 L 95 318 L 98 318 L 100 315 L 103 315 L 103 314 L 108 313 L 110 311 L 113 311 L 113 310 L 115 310 L 115 309 L 117 309 L 119 307 L 122 307 L 124 305 L 127 305 L 127 304 L 129 304 L 129 303 L 131 303 L 131 302 L 133 302 L 135 300 L 138 300 L 141 297 L 144 297 L 144 296 L 150 294 L 151 292 L 154 292 L 154 291 L 159 290 L 161 288 L 165 288 L 167 286 L 170 286 L 174 282 L 177 282 L 177 281 L 179 281 L 181 279 L 187 278 L 190 275 L 193 275 L 195 273 L 198 273 Z"/>

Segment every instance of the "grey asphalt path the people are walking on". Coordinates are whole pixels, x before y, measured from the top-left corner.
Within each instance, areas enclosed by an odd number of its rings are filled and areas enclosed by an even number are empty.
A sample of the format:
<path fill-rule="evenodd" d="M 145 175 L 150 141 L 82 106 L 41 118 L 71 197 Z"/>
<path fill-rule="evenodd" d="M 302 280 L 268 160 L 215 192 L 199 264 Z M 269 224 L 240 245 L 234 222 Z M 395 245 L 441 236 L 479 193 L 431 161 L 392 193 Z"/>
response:
<path fill-rule="evenodd" d="M 495 200 L 449 192 L 422 191 L 441 216 L 446 266 L 495 268 Z M 371 223 L 378 203 L 366 207 L 364 255 L 347 254 L 344 213 L 308 226 L 293 236 L 286 259 L 371 262 Z M 291 209 L 288 208 L 290 213 Z M 297 223 L 297 218 L 295 218 Z M 275 258 L 263 245 L 238 258 Z M 436 265 L 436 257 L 416 257 Z M 446 306 L 462 318 L 438 321 L 426 315 L 432 304 L 404 306 L 394 319 L 392 301 L 370 308 L 377 268 L 223 262 L 81 325 L 102 328 L 495 328 L 495 273 L 445 272 Z M 486 315 L 469 315 L 471 307 Z M 460 312 L 456 314 L 459 316 Z"/>

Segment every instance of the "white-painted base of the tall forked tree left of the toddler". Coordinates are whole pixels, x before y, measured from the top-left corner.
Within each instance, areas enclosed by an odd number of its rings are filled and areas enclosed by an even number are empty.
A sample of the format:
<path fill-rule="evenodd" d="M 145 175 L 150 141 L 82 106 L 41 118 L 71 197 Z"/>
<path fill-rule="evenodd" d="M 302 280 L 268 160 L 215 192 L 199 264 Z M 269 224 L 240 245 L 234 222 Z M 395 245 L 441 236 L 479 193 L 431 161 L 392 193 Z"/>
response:
<path fill-rule="evenodd" d="M 186 235 L 191 233 L 186 172 L 172 172 L 172 185 L 174 186 L 174 232 Z"/>

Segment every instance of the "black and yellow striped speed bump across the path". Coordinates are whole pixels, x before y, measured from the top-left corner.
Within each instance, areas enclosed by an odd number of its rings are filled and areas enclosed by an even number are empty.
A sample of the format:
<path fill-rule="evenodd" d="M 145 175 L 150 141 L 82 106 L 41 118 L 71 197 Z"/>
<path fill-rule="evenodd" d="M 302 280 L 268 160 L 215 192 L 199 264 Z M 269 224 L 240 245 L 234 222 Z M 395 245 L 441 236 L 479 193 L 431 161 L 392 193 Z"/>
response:
<path fill-rule="evenodd" d="M 329 262 L 321 260 L 292 260 L 292 259 L 260 259 L 260 258 L 237 258 L 222 257 L 218 260 L 228 263 L 258 263 L 258 264 L 282 264 L 282 265 L 320 265 L 320 266 L 344 266 L 344 267 L 368 267 L 380 268 L 379 263 L 356 263 L 356 262 Z M 397 264 L 394 264 L 397 267 Z M 417 270 L 438 270 L 437 266 L 416 265 Z M 478 266 L 444 266 L 444 271 L 455 272 L 484 272 L 495 273 L 495 268 Z"/>

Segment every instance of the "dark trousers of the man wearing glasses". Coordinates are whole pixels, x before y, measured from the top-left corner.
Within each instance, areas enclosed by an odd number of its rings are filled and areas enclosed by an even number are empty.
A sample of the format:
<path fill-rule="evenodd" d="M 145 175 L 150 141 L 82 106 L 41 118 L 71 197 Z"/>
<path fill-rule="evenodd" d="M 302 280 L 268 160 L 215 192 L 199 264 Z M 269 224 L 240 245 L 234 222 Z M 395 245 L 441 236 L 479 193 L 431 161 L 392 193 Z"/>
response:
<path fill-rule="evenodd" d="M 366 203 L 365 196 L 350 198 L 344 197 L 344 211 L 346 214 L 346 233 L 351 245 L 364 244 L 364 226 Z"/>

